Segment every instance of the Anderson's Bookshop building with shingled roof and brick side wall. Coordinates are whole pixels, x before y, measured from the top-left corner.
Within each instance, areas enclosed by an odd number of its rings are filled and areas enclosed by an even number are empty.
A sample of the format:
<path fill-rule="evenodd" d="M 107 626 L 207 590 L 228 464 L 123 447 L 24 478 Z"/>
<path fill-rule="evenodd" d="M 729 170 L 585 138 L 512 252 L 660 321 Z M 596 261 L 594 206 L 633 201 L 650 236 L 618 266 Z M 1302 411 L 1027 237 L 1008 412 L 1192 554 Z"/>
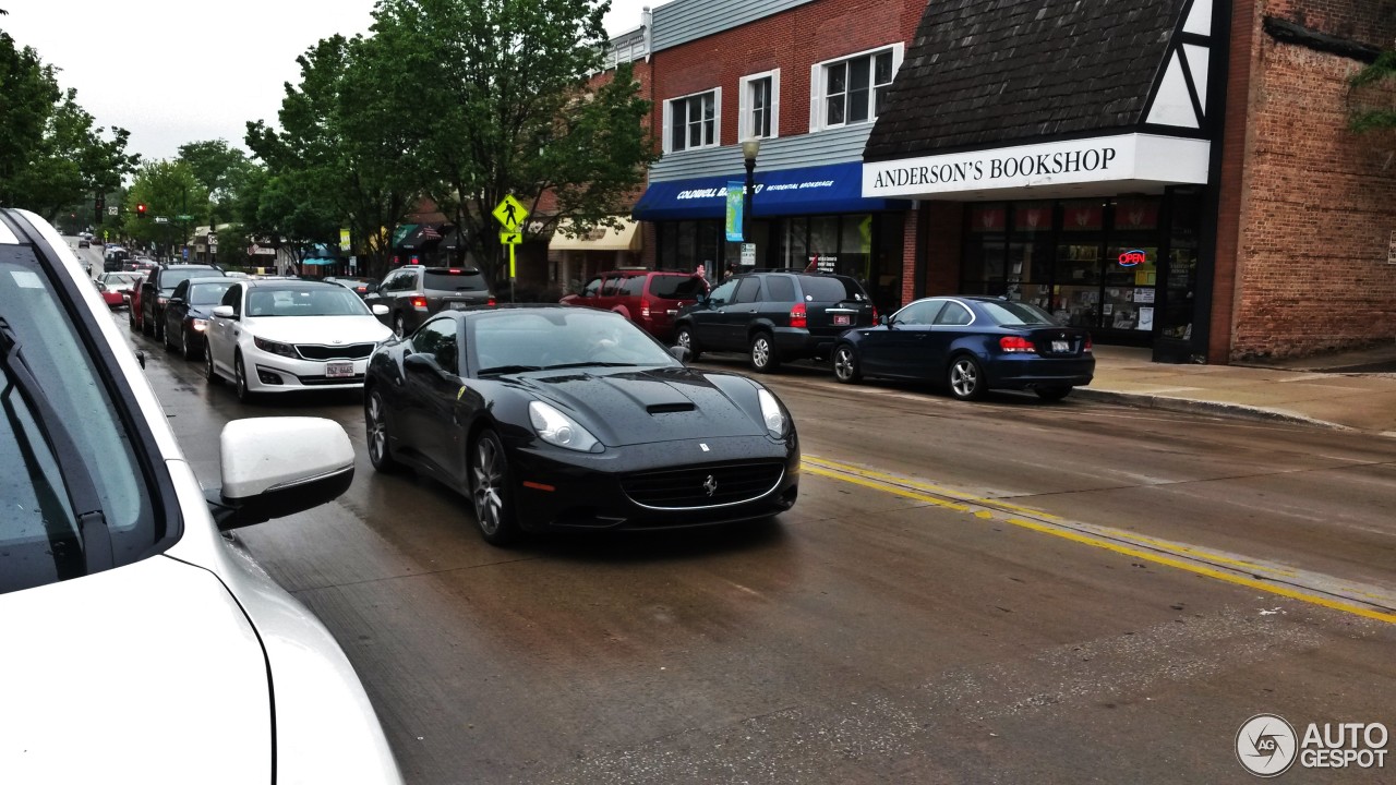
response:
<path fill-rule="evenodd" d="M 1396 0 L 934 0 L 864 152 L 866 197 L 917 204 L 902 300 L 1175 362 L 1392 341 L 1396 144 L 1346 119 L 1393 38 Z"/>

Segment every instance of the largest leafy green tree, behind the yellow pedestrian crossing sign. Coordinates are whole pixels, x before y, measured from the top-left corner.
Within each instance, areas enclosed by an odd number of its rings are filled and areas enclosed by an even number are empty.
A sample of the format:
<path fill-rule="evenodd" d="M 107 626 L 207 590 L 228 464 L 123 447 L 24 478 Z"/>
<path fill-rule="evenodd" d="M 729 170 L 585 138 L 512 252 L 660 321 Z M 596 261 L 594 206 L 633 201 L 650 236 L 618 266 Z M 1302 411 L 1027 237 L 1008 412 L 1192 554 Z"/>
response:
<path fill-rule="evenodd" d="M 359 74 L 371 122 L 405 127 L 402 166 L 465 237 L 462 256 L 507 277 L 491 211 L 512 194 L 546 233 L 618 225 L 653 162 L 649 102 L 628 66 L 595 87 L 609 0 L 381 0 Z M 410 85 L 405 88 L 403 85 Z M 557 198 L 540 215 L 544 193 Z"/>

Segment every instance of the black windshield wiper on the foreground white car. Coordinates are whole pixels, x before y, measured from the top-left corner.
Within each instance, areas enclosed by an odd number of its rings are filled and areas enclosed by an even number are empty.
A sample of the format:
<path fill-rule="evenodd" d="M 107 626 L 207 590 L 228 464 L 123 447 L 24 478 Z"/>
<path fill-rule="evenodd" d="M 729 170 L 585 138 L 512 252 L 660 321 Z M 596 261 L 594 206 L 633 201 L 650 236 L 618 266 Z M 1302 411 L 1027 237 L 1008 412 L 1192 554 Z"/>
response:
<path fill-rule="evenodd" d="M 88 469 L 82 453 L 78 451 L 77 441 L 68 430 L 57 409 L 49 402 L 43 386 L 35 379 L 28 363 L 21 355 L 20 341 L 15 339 L 10 323 L 0 317 L 0 365 L 4 366 L 8 384 L 0 390 L 0 405 L 4 406 L 15 433 L 22 433 L 18 412 L 10 395 L 15 391 L 35 415 L 31 419 L 39 427 L 39 433 L 49 444 L 59 471 L 63 472 L 63 486 L 68 493 L 68 506 L 78 524 L 78 536 L 82 539 L 82 559 L 87 573 L 101 573 L 110 570 L 114 559 L 112 556 L 112 532 L 106 527 L 106 514 L 102 511 L 102 496 L 96 490 L 96 482 Z"/>

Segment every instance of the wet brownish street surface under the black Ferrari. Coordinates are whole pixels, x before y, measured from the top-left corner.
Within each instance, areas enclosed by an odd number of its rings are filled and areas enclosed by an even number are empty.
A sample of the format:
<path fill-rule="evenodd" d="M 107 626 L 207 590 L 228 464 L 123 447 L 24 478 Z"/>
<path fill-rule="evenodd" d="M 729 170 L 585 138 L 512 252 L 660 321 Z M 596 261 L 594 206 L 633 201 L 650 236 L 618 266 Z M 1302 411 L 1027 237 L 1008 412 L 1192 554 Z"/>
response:
<path fill-rule="evenodd" d="M 779 520 L 498 550 L 373 472 L 357 397 L 244 406 L 131 341 L 205 485 L 229 419 L 350 434 L 343 497 L 239 536 L 413 784 L 1247 782 L 1258 712 L 1396 726 L 1389 439 L 796 367 L 766 379 L 805 451 Z"/>

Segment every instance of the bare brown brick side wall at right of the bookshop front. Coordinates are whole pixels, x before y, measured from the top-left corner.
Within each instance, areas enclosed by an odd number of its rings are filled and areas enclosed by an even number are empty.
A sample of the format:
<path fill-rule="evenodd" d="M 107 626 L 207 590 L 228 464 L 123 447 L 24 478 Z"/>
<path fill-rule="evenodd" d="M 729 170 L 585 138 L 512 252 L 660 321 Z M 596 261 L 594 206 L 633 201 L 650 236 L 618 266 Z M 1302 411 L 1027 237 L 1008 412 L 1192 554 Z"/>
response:
<path fill-rule="evenodd" d="M 1346 80 L 1361 63 L 1272 39 L 1276 15 L 1390 46 L 1390 0 L 1254 0 L 1244 187 L 1231 295 L 1231 360 L 1302 356 L 1396 339 L 1396 134 L 1347 130 Z M 1237 1 L 1237 6 L 1249 3 Z M 1244 53 L 1237 53 L 1244 54 Z M 1245 95 L 1242 92 L 1241 95 Z M 1228 109 L 1241 105 L 1233 94 Z M 1396 99 L 1396 94 L 1388 92 Z M 1228 117 L 1230 124 L 1230 117 Z M 1235 126 L 1228 129 L 1228 137 Z M 1227 191 L 1223 190 L 1223 215 Z M 1219 232 L 1219 268 L 1224 232 Z M 1224 317 L 1217 289 L 1215 316 Z M 1213 334 L 1213 346 L 1222 338 Z M 1212 362 L 1222 358 L 1212 352 Z"/>

